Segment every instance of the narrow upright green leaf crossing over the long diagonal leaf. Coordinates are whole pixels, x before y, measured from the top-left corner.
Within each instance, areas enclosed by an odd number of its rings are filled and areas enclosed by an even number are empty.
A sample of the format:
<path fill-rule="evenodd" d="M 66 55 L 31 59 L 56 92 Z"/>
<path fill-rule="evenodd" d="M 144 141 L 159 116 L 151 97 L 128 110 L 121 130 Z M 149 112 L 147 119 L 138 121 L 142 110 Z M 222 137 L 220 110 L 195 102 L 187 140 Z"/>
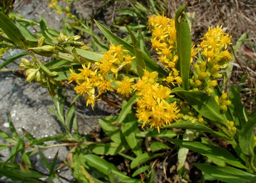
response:
<path fill-rule="evenodd" d="M 140 78 L 144 75 L 144 70 L 145 70 L 145 62 L 144 58 L 142 56 L 142 52 L 138 50 L 138 41 L 134 35 L 134 33 L 130 30 L 128 26 L 126 26 L 126 29 L 128 30 L 131 38 L 132 38 L 132 43 L 133 43 L 133 49 L 136 57 L 136 67 L 137 67 L 137 73 Z"/>

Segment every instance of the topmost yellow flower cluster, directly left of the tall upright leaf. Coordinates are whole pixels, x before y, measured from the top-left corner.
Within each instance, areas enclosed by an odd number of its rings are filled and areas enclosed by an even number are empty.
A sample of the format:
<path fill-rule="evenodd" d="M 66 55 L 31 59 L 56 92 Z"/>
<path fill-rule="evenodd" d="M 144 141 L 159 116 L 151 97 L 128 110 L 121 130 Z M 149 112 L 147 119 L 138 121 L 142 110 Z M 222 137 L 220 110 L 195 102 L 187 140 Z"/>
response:
<path fill-rule="evenodd" d="M 148 29 L 152 31 L 152 49 L 157 50 L 159 54 L 158 60 L 163 66 L 170 70 L 169 76 L 163 81 L 172 83 L 182 83 L 182 78 L 178 76 L 178 70 L 175 68 L 178 55 L 177 55 L 177 40 L 176 40 L 176 29 L 174 19 L 165 17 L 164 15 L 150 17 L 148 19 Z M 195 56 L 197 52 L 192 47 L 191 55 Z M 152 50 L 151 49 L 151 50 Z M 192 58 L 191 58 L 192 59 Z"/>

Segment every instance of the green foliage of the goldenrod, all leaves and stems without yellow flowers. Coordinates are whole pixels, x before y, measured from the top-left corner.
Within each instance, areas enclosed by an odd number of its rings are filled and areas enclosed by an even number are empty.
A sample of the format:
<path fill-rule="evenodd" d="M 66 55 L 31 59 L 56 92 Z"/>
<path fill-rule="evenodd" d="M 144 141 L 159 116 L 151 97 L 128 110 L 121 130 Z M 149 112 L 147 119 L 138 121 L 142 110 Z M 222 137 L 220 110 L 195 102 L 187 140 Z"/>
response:
<path fill-rule="evenodd" d="M 143 8 L 139 9 L 139 7 L 143 6 L 136 5 L 135 3 L 134 7 L 137 8 L 134 10 L 136 10 L 138 15 L 144 15 Z M 174 88 L 172 93 L 177 94 L 180 99 L 186 100 L 197 113 L 204 117 L 204 123 L 193 124 L 189 120 L 178 121 L 168 126 L 167 129 L 161 130 L 160 133 L 151 129 L 141 131 L 138 127 L 140 123 L 136 120 L 134 115 L 135 109 L 133 107 L 137 97 L 133 96 L 130 100 L 123 101 L 119 116 L 108 116 L 105 119 L 99 119 L 99 124 L 104 132 L 103 137 L 105 138 L 94 141 L 91 139 L 90 134 L 82 136 L 78 133 L 77 118 L 74 116 L 74 105 L 71 105 L 69 110 L 64 114 L 63 100 L 57 97 L 53 98 L 56 110 L 52 108 L 50 110 L 62 123 L 65 132 L 58 136 L 39 139 L 34 138 L 30 133 L 25 131 L 22 136 L 19 136 L 15 131 L 11 119 L 9 119 L 12 137 L 0 131 L 0 136 L 9 143 L 3 144 L 0 147 L 1 150 L 12 148 L 12 152 L 7 161 L 0 162 L 1 166 L 4 167 L 4 170 L 3 168 L 0 169 L 0 174 L 13 180 L 24 182 L 40 182 L 39 178 L 46 176 L 49 176 L 51 182 L 53 181 L 53 177 L 60 180 L 61 177 L 55 169 L 58 153 L 52 165 L 50 165 L 40 151 L 44 148 L 59 146 L 58 144 L 46 145 L 44 144 L 45 141 L 59 140 L 65 146 L 72 147 L 65 165 L 69 166 L 79 183 L 102 183 L 104 181 L 110 183 L 139 183 L 141 181 L 140 179 L 153 183 L 155 179 L 154 159 L 165 159 L 171 152 L 177 152 L 178 167 L 176 173 L 181 178 L 186 178 L 184 162 L 186 161 L 188 150 L 195 151 L 206 157 L 205 163 L 194 164 L 203 172 L 202 182 L 217 179 L 226 183 L 253 183 L 256 179 L 256 155 L 254 151 L 256 114 L 249 117 L 248 112 L 243 107 L 239 98 L 241 88 L 239 86 L 236 88 L 231 87 L 229 100 L 233 104 L 228 108 L 227 113 L 224 114 L 220 112 L 220 108 L 214 99 L 214 96 L 220 97 L 222 94 L 219 88 L 214 90 L 212 96 L 208 96 L 202 91 L 187 90 L 191 54 L 188 48 L 191 48 L 191 35 L 186 16 L 183 13 L 185 7 L 186 5 L 182 6 L 176 14 L 176 30 L 178 35 L 177 52 L 179 55 L 178 67 L 183 79 L 183 88 Z M 125 12 L 124 10 L 122 11 Z M 150 11 L 156 10 L 152 8 Z M 36 47 L 37 41 L 41 36 L 46 38 L 45 44 L 47 45 L 56 45 L 58 43 L 54 37 L 59 36 L 59 31 L 51 29 L 43 20 L 40 22 L 31 22 L 22 18 L 16 18 L 15 23 L 19 28 L 0 12 L 0 29 L 6 34 L 5 39 L 24 50 Z M 133 61 L 131 68 L 134 74 L 141 77 L 143 75 L 141 68 L 146 68 L 150 72 L 158 71 L 159 77 L 167 76 L 167 73 L 162 67 L 158 66 L 150 58 L 148 52 L 145 51 L 145 42 L 141 33 L 138 32 L 135 34 L 133 29 L 126 27 L 127 32 L 131 36 L 130 43 L 132 44 L 130 44 L 120 39 L 97 21 L 95 23 L 108 41 L 111 41 L 115 45 L 123 45 L 123 48 L 129 50 L 132 56 L 136 56 L 136 60 Z M 30 33 L 27 27 L 31 25 L 39 26 L 41 31 L 35 35 Z M 95 48 L 94 51 L 66 47 L 65 49 L 71 51 L 70 53 L 60 52 L 61 54 L 58 55 L 45 52 L 38 53 L 42 56 L 57 58 L 57 60 L 45 64 L 46 67 L 51 67 L 50 70 L 52 72 L 58 72 L 58 75 L 55 76 L 56 80 L 67 79 L 70 75 L 69 68 L 73 67 L 76 71 L 81 67 L 78 64 L 79 56 L 95 62 L 98 61 L 98 58 L 102 57 L 102 54 L 97 52 L 98 50 L 96 48 L 99 46 L 101 50 L 108 49 L 105 44 L 101 43 L 100 38 L 92 33 L 93 30 L 91 27 L 84 23 L 81 23 L 81 25 L 81 27 L 74 26 L 72 28 L 92 35 L 92 39 L 95 40 L 91 43 L 91 46 Z M 143 23 L 143 25 L 145 24 Z M 68 26 L 63 26 L 63 32 L 69 36 L 74 35 Z M 16 57 L 20 56 L 16 55 Z M 4 66 L 11 61 L 4 62 Z M 235 122 L 237 128 L 236 134 L 232 134 L 228 130 L 227 120 Z M 173 128 L 186 129 L 186 131 L 184 133 L 176 133 L 172 130 Z M 73 133 L 72 129 L 74 130 Z M 208 141 L 202 137 L 201 132 L 210 134 L 211 137 L 217 137 L 227 141 L 231 144 L 233 152 L 231 153 L 229 150 Z M 172 139 L 176 136 L 182 136 L 182 140 Z M 26 141 L 24 137 L 26 137 Z M 153 140 L 150 141 L 150 139 Z M 26 152 L 25 149 L 28 147 L 35 148 L 36 150 Z M 22 155 L 22 161 L 20 165 L 16 165 L 14 164 L 14 159 L 19 152 Z M 49 170 L 48 174 L 38 172 L 31 164 L 29 157 L 37 152 L 39 152 L 44 165 Z M 121 167 L 118 169 L 116 167 L 117 165 L 108 159 L 110 156 L 118 157 L 119 159 L 122 158 L 125 162 L 125 168 Z M 13 171 L 16 173 L 13 174 Z"/>

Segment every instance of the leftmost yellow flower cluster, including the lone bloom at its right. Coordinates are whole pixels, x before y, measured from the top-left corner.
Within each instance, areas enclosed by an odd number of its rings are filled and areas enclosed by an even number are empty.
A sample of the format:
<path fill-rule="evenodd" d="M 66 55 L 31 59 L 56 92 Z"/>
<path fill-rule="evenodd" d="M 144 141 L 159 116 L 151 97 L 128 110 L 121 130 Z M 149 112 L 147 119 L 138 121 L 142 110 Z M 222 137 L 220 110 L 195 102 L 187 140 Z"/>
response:
<path fill-rule="evenodd" d="M 126 56 L 124 56 L 126 53 Z M 103 57 L 91 68 L 91 63 L 82 65 L 82 69 L 78 69 L 80 73 L 75 73 L 70 69 L 71 74 L 68 83 L 75 81 L 77 83 L 74 88 L 80 95 L 84 96 L 86 106 L 89 104 L 94 108 L 95 101 L 100 100 L 100 95 L 106 91 L 114 91 L 129 96 L 134 89 L 134 79 L 129 79 L 125 76 L 123 81 L 116 81 L 118 87 L 112 84 L 118 77 L 118 71 L 122 68 L 131 68 L 131 60 L 133 59 L 128 53 L 128 50 L 123 50 L 121 45 L 115 46 L 112 44 L 107 52 L 103 52 Z M 98 89 L 98 95 L 95 95 L 95 90 Z"/>

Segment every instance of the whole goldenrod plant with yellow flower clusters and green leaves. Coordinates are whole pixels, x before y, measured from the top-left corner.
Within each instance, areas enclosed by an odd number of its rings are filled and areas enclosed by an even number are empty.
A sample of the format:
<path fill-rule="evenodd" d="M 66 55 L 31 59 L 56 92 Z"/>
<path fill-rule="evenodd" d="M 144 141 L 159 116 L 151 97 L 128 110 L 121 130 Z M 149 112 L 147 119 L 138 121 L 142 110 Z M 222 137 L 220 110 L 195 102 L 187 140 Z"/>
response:
<path fill-rule="evenodd" d="M 57 1 L 51 2 L 50 6 L 58 9 Z M 256 180 L 256 114 L 248 116 L 245 108 L 241 113 L 238 111 L 241 106 L 232 106 L 233 102 L 242 105 L 236 89 L 231 89 L 233 97 L 229 97 L 228 92 L 221 92 L 216 80 L 222 78 L 220 70 L 232 59 L 229 51 L 232 36 L 217 24 L 209 26 L 199 45 L 193 45 L 185 14 L 187 6 L 181 6 L 174 19 L 164 16 L 164 12 L 149 17 L 145 26 L 152 32 L 151 49 L 156 50 L 156 61 L 139 49 L 140 40 L 129 26 L 126 29 L 131 44 L 95 20 L 110 43 L 108 50 L 97 52 L 79 41 L 79 35 L 47 29 L 44 21 L 36 23 L 41 32 L 33 35 L 19 21 L 18 28 L 0 12 L 0 38 L 30 54 L 32 62 L 22 58 L 20 63 L 27 82 L 39 82 L 48 88 L 57 109 L 51 111 L 65 129 L 63 134 L 43 139 L 36 139 L 28 132 L 20 137 L 9 118 L 14 136 L 1 131 L 0 135 L 9 143 L 1 149 L 12 147 L 13 151 L 6 162 L 0 162 L 3 167 L 0 174 L 31 183 L 42 182 L 39 178 L 45 176 L 50 177 L 50 182 L 53 177 L 61 182 L 64 178 L 54 169 L 58 153 L 50 165 L 40 151 L 41 147 L 57 147 L 44 144 L 56 139 L 71 147 L 65 166 L 79 183 L 154 183 L 156 161 L 166 162 L 174 152 L 178 154 L 178 168 L 174 168 L 175 176 L 168 174 L 171 177 L 166 177 L 164 170 L 164 179 L 176 177 L 176 180 L 191 182 L 184 170 L 188 150 L 205 157 L 193 165 L 203 172 L 202 182 L 253 183 Z M 43 64 L 37 55 L 55 59 Z M 98 119 L 107 138 L 93 141 L 90 134 L 78 133 L 75 106 L 72 104 L 65 114 L 63 112 L 58 87 L 64 83 L 75 83 L 74 90 L 86 100 L 84 107 L 92 109 L 106 92 L 122 96 L 119 116 Z M 226 141 L 232 148 L 217 146 L 202 133 Z M 23 137 L 28 142 L 23 141 Z M 25 150 L 31 147 L 36 150 Z M 18 166 L 14 165 L 14 158 L 19 152 L 22 163 Z M 40 173 L 31 164 L 29 156 L 36 152 L 44 159 L 48 174 Z M 108 156 L 118 156 L 125 168 L 118 169 Z"/>

